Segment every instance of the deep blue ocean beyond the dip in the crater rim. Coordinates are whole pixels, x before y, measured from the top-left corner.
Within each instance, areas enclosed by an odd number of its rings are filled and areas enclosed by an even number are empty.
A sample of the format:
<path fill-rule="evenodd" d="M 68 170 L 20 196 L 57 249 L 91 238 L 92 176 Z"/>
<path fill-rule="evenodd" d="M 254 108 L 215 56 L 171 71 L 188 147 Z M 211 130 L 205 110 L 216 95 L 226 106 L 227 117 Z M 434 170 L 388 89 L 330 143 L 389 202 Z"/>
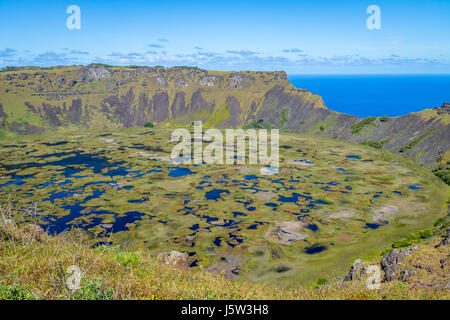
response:
<path fill-rule="evenodd" d="M 450 75 L 289 75 L 332 110 L 358 117 L 401 116 L 450 102 Z"/>

